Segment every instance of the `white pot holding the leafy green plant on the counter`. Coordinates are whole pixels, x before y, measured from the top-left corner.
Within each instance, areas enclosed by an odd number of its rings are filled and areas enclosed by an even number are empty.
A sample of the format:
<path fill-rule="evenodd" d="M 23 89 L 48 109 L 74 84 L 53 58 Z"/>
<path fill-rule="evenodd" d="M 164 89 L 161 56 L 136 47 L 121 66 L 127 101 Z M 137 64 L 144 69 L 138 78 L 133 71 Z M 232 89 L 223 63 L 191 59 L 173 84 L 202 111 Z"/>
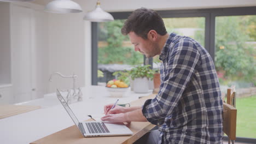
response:
<path fill-rule="evenodd" d="M 135 93 L 148 93 L 149 91 L 148 78 L 135 78 L 133 81 L 133 91 Z"/>

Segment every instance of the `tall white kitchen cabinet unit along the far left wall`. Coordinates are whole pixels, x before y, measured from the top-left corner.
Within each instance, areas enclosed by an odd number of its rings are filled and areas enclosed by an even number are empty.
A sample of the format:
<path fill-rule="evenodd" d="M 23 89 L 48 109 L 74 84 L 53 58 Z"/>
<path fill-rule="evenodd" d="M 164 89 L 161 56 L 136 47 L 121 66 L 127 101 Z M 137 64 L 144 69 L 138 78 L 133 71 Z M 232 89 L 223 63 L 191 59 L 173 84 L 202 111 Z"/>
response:
<path fill-rule="evenodd" d="M 3 83 L 12 85 L 9 101 L 18 103 L 43 97 L 48 74 L 48 15 L 43 8 L 31 5 L 0 3 L 0 8 L 1 16 L 7 20 L 2 21 L 1 17 L 0 21 L 0 29 L 7 34 L 6 40 L 1 41 L 4 51 L 1 43 L 0 55 L 5 56 L 5 63 L 0 63 L 0 69 L 5 71 L 0 78 L 9 77 L 3 79 Z M 0 35 L 5 37 L 4 33 Z"/>

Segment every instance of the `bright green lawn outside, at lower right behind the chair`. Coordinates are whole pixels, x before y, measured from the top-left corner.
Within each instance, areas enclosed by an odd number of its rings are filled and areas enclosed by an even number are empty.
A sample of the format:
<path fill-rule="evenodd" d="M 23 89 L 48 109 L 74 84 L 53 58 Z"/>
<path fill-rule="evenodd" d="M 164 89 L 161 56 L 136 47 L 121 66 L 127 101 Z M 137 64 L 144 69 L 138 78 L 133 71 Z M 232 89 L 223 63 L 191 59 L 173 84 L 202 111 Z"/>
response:
<path fill-rule="evenodd" d="M 236 99 L 236 136 L 256 139 L 256 95 Z"/>

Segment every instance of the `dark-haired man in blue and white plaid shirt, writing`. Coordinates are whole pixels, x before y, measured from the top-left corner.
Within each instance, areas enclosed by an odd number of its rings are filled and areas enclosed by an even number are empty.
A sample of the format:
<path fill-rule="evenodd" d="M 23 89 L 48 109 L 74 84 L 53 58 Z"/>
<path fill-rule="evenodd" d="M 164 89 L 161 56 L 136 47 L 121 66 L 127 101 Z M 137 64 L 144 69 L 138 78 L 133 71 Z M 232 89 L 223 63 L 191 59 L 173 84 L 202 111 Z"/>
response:
<path fill-rule="evenodd" d="M 167 34 L 158 13 L 146 8 L 133 11 L 121 31 L 129 35 L 135 51 L 160 55 L 160 91 L 142 107 L 104 106 L 102 121 L 160 125 L 146 143 L 223 143 L 219 82 L 205 48 L 189 37 Z"/>

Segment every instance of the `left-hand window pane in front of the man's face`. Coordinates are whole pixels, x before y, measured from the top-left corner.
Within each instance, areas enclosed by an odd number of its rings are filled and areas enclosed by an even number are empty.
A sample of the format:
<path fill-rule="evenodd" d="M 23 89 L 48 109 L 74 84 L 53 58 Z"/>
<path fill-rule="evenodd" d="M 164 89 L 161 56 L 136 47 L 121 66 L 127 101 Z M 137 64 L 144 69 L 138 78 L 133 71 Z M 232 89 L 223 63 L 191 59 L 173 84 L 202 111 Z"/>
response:
<path fill-rule="evenodd" d="M 129 70 L 133 65 L 143 64 L 143 55 L 134 50 L 128 35 L 121 34 L 125 20 L 98 23 L 98 82 L 115 79 L 113 73 Z M 101 73 L 101 71 L 98 71 Z"/>

